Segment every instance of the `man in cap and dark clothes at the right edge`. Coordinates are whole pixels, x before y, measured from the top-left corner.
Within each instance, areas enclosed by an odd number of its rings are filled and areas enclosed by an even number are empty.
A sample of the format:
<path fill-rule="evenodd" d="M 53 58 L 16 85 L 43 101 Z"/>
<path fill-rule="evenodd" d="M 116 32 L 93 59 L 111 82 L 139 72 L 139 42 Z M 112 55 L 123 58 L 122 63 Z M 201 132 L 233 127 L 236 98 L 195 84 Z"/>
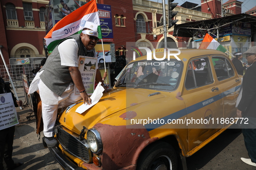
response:
<path fill-rule="evenodd" d="M 246 125 L 242 122 L 242 132 L 250 158 L 241 157 L 241 160 L 256 167 L 256 46 L 250 47 L 243 54 L 246 54 L 246 59 L 251 65 L 243 76 L 243 92 L 237 106 L 237 116 L 243 117 L 249 123 Z"/>

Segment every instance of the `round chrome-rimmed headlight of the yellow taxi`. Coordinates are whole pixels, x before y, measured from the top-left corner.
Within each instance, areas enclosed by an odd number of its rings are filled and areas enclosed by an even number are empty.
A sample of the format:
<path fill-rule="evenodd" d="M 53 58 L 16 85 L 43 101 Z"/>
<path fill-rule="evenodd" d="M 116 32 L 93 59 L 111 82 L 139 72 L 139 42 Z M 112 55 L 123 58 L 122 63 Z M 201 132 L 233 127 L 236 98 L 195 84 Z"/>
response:
<path fill-rule="evenodd" d="M 87 142 L 94 154 L 98 154 L 102 151 L 100 133 L 96 129 L 93 128 L 87 131 Z"/>

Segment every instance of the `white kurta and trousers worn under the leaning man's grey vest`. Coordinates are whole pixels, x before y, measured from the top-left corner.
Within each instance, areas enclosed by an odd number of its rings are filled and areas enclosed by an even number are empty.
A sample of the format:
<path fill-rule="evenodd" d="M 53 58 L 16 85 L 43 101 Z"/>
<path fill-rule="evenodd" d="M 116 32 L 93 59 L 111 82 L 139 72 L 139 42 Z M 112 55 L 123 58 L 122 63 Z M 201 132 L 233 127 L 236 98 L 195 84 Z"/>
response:
<path fill-rule="evenodd" d="M 61 65 L 78 67 L 78 50 L 78 43 L 73 38 L 67 39 L 59 44 L 58 51 L 60 53 Z M 90 51 L 88 50 L 88 52 Z M 94 54 L 94 57 L 96 57 L 96 53 Z M 46 137 L 52 137 L 55 134 L 54 130 L 58 108 L 74 104 L 82 98 L 80 95 L 75 95 L 75 85 L 73 85 L 73 83 L 70 83 L 64 93 L 61 96 L 58 96 L 42 82 L 39 77 L 42 72 L 43 71 L 38 72 L 33 79 L 29 87 L 29 94 L 39 90 L 40 98 L 42 100 L 43 132 Z"/>

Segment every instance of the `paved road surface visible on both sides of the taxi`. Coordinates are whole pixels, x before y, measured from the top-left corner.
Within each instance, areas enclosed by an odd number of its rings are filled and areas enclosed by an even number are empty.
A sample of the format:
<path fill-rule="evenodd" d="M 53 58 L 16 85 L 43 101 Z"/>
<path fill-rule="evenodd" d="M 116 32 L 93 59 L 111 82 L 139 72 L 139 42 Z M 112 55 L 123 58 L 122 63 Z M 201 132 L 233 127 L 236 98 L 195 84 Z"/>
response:
<path fill-rule="evenodd" d="M 25 101 L 23 88 L 18 88 L 19 99 Z M 16 108 L 19 125 L 13 143 L 13 160 L 24 162 L 15 170 L 62 170 L 47 148 L 42 145 L 42 139 L 36 135 L 36 120 L 26 119 L 32 113 L 30 107 L 23 110 Z M 248 157 L 241 132 L 234 133 L 227 129 L 200 151 L 188 157 L 188 170 L 256 170 L 256 167 L 244 164 L 240 157 Z"/>

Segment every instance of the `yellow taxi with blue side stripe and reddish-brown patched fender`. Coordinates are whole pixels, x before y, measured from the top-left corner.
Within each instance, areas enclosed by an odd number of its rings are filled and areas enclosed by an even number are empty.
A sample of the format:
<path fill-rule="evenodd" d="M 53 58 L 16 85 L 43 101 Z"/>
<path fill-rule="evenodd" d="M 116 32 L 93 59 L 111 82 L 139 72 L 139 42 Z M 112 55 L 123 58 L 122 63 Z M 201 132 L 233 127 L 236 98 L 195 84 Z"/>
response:
<path fill-rule="evenodd" d="M 76 113 L 80 101 L 60 113 L 49 149 L 63 169 L 177 170 L 236 123 L 241 78 L 224 53 L 167 56 L 137 58 L 89 110 Z"/>

